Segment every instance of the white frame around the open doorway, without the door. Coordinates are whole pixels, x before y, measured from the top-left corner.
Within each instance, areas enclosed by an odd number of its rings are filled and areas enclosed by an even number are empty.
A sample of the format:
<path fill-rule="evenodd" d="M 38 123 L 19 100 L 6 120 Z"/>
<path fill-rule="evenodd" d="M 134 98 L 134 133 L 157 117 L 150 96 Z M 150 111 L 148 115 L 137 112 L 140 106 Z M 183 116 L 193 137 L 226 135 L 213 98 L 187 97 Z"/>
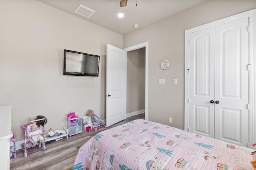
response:
<path fill-rule="evenodd" d="M 148 120 L 148 41 L 124 48 L 127 52 L 145 47 L 145 120 Z"/>

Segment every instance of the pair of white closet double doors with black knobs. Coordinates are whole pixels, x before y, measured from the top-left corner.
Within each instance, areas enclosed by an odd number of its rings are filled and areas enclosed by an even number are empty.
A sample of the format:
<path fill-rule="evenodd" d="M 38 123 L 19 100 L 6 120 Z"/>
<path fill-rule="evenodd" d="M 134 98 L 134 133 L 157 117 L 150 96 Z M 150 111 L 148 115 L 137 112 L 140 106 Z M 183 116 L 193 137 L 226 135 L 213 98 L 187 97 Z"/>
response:
<path fill-rule="evenodd" d="M 248 143 L 248 18 L 190 33 L 189 131 Z"/>

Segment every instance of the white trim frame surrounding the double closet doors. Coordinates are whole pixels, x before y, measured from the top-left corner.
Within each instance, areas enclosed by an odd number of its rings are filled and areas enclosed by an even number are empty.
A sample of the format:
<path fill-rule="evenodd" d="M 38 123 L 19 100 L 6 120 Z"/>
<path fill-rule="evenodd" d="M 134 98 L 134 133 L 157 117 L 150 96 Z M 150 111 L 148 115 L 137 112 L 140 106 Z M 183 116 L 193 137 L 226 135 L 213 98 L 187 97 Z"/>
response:
<path fill-rule="evenodd" d="M 185 104 L 184 104 L 184 129 L 189 131 L 189 51 L 190 51 L 190 33 L 195 31 L 200 31 L 209 27 L 215 27 L 227 22 L 240 20 L 242 18 L 249 18 L 249 63 L 248 70 L 249 72 L 249 103 L 248 103 L 248 148 L 253 148 L 252 144 L 256 141 L 256 9 L 249 10 L 234 16 L 230 16 L 221 20 L 213 21 L 194 27 L 191 29 L 185 30 Z"/>

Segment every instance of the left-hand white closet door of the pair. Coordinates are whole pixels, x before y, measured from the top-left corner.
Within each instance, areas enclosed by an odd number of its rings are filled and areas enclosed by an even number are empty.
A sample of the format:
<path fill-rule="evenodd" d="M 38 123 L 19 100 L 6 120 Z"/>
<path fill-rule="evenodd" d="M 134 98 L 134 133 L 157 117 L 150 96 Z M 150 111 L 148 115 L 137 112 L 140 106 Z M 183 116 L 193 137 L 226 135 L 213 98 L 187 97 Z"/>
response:
<path fill-rule="evenodd" d="M 214 138 L 214 35 L 211 27 L 190 34 L 189 131 Z"/>

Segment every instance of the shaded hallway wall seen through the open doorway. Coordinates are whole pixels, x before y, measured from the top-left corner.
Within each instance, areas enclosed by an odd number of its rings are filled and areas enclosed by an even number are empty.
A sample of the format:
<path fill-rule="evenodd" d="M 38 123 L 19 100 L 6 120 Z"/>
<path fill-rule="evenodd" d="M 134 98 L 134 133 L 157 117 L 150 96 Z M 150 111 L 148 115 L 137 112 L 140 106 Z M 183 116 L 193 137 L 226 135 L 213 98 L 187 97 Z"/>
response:
<path fill-rule="evenodd" d="M 127 113 L 145 109 L 145 48 L 127 53 Z"/>

